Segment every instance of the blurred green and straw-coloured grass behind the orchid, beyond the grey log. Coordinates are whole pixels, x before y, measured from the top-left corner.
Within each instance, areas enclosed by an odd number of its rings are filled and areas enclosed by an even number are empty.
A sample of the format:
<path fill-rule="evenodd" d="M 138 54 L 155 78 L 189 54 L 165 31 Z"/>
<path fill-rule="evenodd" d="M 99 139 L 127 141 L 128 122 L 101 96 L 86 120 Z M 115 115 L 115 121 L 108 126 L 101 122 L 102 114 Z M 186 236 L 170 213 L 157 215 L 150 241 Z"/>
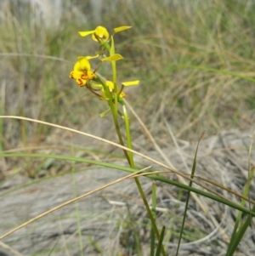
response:
<path fill-rule="evenodd" d="M 94 43 L 79 37 L 77 31 L 93 30 L 98 25 L 111 31 L 127 25 L 133 26 L 132 30 L 116 36 L 117 49 L 125 58 L 118 62 L 118 78 L 140 80 L 139 87 L 126 91 L 127 100 L 161 147 L 172 143 L 164 118 L 172 125 L 176 138 L 188 141 L 196 141 L 203 130 L 210 136 L 230 128 L 252 128 L 252 0 L 103 3 L 96 17 L 88 1 L 63 3 L 58 25 L 47 25 L 39 14 L 31 19 L 28 3 L 13 1 L 5 5 L 0 23 L 2 115 L 31 117 L 92 133 L 94 126 L 104 125 L 104 138 L 115 140 L 113 128 L 98 117 L 105 111 L 105 104 L 91 97 L 85 88 L 78 88 L 69 73 L 77 56 L 96 51 Z M 107 77 L 107 68 L 100 72 Z M 144 142 L 135 123 L 132 128 L 139 149 Z M 0 133 L 4 151 L 31 151 L 31 147 L 48 145 L 49 141 L 65 145 L 70 136 L 55 134 L 53 129 L 38 124 L 2 119 Z M 91 143 L 87 141 L 89 148 L 96 149 Z M 26 159 L 18 163 L 5 162 L 3 177 L 14 174 L 14 169 L 39 177 L 38 170 L 45 164 Z"/>

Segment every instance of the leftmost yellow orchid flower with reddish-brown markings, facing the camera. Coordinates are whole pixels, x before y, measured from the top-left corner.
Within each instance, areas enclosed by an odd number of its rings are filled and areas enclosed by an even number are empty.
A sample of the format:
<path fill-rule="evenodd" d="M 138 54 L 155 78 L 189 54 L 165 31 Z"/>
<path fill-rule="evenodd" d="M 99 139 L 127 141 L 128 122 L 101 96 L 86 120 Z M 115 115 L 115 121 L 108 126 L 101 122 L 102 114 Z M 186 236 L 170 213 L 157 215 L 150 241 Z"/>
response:
<path fill-rule="evenodd" d="M 73 67 L 73 71 L 70 73 L 70 78 L 75 79 L 79 86 L 85 86 L 88 80 L 96 78 L 96 75 L 91 71 L 90 63 L 88 59 L 93 57 L 78 57 L 77 63 Z"/>

